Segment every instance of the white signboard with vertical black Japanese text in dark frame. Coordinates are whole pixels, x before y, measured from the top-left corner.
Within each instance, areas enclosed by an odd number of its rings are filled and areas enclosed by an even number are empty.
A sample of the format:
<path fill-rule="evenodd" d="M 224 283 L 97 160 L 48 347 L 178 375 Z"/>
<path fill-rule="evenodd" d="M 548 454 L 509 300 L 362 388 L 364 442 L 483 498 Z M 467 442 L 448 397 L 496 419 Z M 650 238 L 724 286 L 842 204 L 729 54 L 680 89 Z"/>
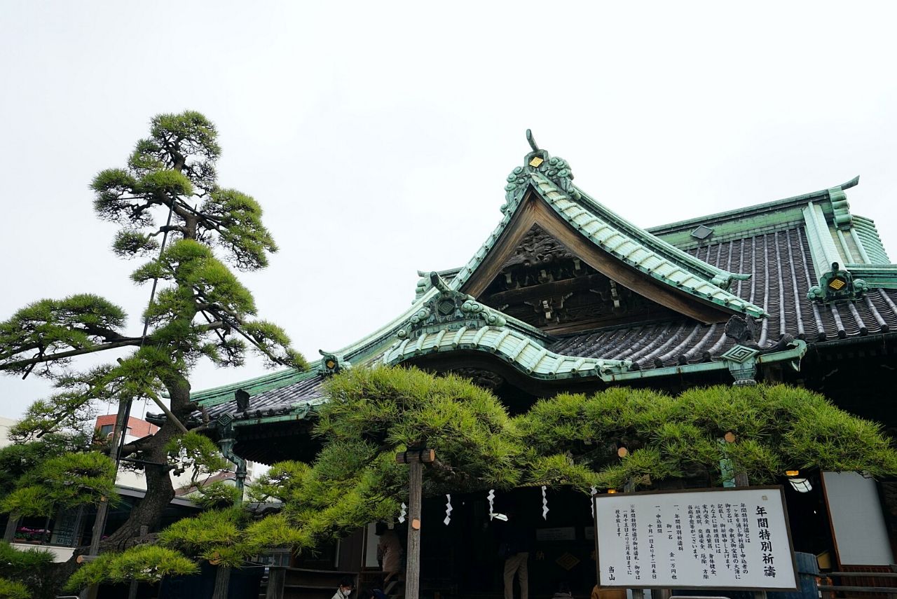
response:
<path fill-rule="evenodd" d="M 797 589 L 781 487 L 599 494 L 594 501 L 601 585 Z"/>

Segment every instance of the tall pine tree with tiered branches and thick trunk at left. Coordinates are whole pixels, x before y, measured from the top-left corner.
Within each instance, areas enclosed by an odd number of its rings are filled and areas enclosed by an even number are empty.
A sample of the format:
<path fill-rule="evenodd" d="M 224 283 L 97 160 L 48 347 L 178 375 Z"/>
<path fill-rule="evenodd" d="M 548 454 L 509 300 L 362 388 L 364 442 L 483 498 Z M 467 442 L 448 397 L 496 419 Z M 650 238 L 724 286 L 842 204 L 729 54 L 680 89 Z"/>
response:
<path fill-rule="evenodd" d="M 189 418 L 196 411 L 189 376 L 198 360 L 233 367 L 254 351 L 270 366 L 307 367 L 280 327 L 256 319 L 252 294 L 228 266 L 264 268 L 277 247 L 256 200 L 219 185 L 216 138 L 215 126 L 198 112 L 153 117 L 150 135 L 136 143 L 126 167 L 103 170 L 92 181 L 97 216 L 119 227 L 113 252 L 150 257 L 131 277 L 153 291 L 142 332 L 126 333 L 125 310 L 90 293 L 39 300 L 0 323 L 0 370 L 46 377 L 57 387 L 14 428 L 20 441 L 90 430 L 96 402 L 122 409 L 139 398 L 170 399 L 160 430 L 122 449 L 122 456 L 143 464 L 147 491 L 103 541 L 103 550 L 126 547 L 142 527 L 158 529 L 174 497 L 170 471 L 182 467 L 170 455 L 180 453 L 185 431 L 196 427 Z M 77 356 L 118 348 L 131 352 L 74 369 Z M 27 492 L 33 490 L 21 491 Z M 21 508 L 22 501 L 13 505 L 13 495 L 6 498 L 7 508 Z"/>

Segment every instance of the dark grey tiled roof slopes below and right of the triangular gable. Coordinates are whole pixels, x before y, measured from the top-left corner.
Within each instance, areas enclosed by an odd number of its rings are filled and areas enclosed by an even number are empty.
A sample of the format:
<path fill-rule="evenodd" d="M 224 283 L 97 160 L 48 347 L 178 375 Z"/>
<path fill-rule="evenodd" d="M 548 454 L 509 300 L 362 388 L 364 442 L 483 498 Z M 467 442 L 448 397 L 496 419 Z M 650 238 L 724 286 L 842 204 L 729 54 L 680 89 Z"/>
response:
<path fill-rule="evenodd" d="M 875 289 L 856 303 L 823 305 L 806 298 L 816 284 L 813 261 L 802 226 L 794 229 L 711 244 L 692 250 L 711 265 L 752 273 L 732 286 L 738 296 L 763 308 L 761 345 L 792 334 L 807 343 L 897 331 L 897 291 Z M 553 352 L 612 360 L 633 360 L 641 369 L 710 360 L 733 342 L 725 324 L 700 325 L 685 318 L 576 334 L 551 345 Z"/>

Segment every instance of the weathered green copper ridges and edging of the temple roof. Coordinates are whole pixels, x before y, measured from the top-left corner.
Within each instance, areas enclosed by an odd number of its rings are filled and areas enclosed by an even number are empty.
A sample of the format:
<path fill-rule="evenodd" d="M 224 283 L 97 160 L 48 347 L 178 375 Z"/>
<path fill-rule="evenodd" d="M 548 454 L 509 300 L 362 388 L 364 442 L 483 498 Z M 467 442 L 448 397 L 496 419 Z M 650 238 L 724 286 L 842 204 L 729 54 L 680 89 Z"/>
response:
<path fill-rule="evenodd" d="M 817 277 L 828 265 L 831 272 L 827 275 L 849 275 L 852 282 L 862 283 L 854 288 L 854 296 L 850 299 L 858 297 L 856 290 L 860 290 L 861 294 L 863 285 L 897 288 L 897 265 L 889 263 L 875 223 L 849 212 L 844 190 L 856 185 L 857 179 L 812 194 L 642 230 L 574 186 L 570 165 L 566 161 L 550 157 L 547 152 L 538 150 L 535 143 L 533 145 L 534 151 L 527 155 L 524 166 L 514 169 L 508 178 L 501 222 L 467 265 L 441 273 L 421 273 L 417 297 L 409 308 L 358 342 L 326 354 L 326 359 L 322 361 L 351 367 L 376 362 L 396 364 L 415 356 L 439 352 L 485 352 L 532 378 L 599 378 L 606 383 L 732 368 L 732 360 L 725 357 L 723 360 L 714 358 L 700 363 L 688 361 L 670 366 L 669 359 L 675 356 L 670 353 L 672 350 L 666 349 L 669 340 L 661 341 L 657 347 L 646 345 L 644 350 L 635 354 L 645 354 L 650 349 L 651 354 L 660 357 L 658 364 L 663 364 L 658 368 L 644 368 L 642 365 L 639 369 L 633 366 L 636 358 L 628 360 L 630 355 L 625 352 L 616 354 L 620 360 L 567 355 L 561 343 L 563 340 L 554 339 L 497 309 L 484 306 L 460 291 L 495 247 L 519 206 L 524 204 L 527 194 L 544 203 L 547 208 L 540 206 L 542 213 L 552 210 L 559 219 L 578 230 L 583 239 L 632 269 L 670 288 L 732 312 L 751 316 L 763 314 L 762 308 L 727 291 L 733 280 L 744 279 L 745 275 L 729 273 L 684 250 L 720 243 L 723 239 L 745 239 L 761 233 L 800 227 L 806 230 L 806 242 L 810 246 L 810 256 L 807 257 L 811 258 Z M 709 238 L 697 239 L 691 235 L 699 225 L 712 229 Z M 838 270 L 832 271 L 832 262 L 838 263 Z M 821 279 L 821 282 L 825 281 L 831 281 L 831 278 Z M 889 301 L 890 296 L 883 297 Z M 689 339 L 694 335 L 719 334 L 719 327 L 721 325 L 697 327 L 693 331 L 689 329 L 692 331 Z M 663 339 L 666 339 L 665 334 L 661 332 Z M 673 335 L 673 332 L 669 334 Z M 710 343 L 718 347 L 723 341 L 709 342 L 709 351 L 713 350 Z M 806 343 L 797 341 L 791 343 L 787 351 L 763 354 L 756 357 L 756 361 L 789 360 L 797 367 L 797 361 L 804 352 Z M 597 350 L 591 355 L 603 354 Z M 683 357 L 686 360 L 693 358 L 691 355 L 679 356 Z M 319 378 L 320 373 L 333 370 L 322 361 L 316 362 L 307 372 L 283 370 L 200 391 L 192 396 L 201 404 L 212 406 L 232 401 L 237 389 L 258 395 L 303 384 L 303 381 L 309 385 L 311 378 Z M 289 418 L 300 417 L 298 412 L 293 412 Z"/>

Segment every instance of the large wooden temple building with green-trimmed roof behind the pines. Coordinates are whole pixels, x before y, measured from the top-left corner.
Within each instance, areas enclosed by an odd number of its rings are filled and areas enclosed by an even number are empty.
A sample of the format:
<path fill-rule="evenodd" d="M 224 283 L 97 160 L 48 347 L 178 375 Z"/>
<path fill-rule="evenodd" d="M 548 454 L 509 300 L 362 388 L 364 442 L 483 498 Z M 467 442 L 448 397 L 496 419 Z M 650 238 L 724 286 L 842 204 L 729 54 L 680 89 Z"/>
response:
<path fill-rule="evenodd" d="M 319 446 L 310 420 L 325 401 L 322 381 L 375 363 L 458 372 L 492 389 L 511 413 L 541 397 L 607 386 L 675 393 L 780 381 L 897 427 L 889 396 L 897 367 L 897 265 L 875 223 L 851 210 L 847 193 L 858 178 L 642 229 L 577 187 L 567 161 L 539 149 L 528 132 L 527 138 L 532 151 L 506 180 L 498 226 L 471 248 L 465 265 L 419 273 L 416 289 L 409 280 L 410 308 L 348 347 L 321 352 L 309 371 L 284 370 L 195 394 L 196 418 L 217 424 L 232 456 L 266 464 L 312 459 Z M 828 555 L 832 566 L 884 567 L 893 562 L 897 493 L 887 482 L 854 476 L 830 477 L 828 497 L 823 473 L 814 473 L 813 491 L 788 496 L 789 512 L 815 515 L 792 517 L 806 529 L 796 534 L 803 539 L 796 549 Z M 841 531 L 853 525 L 832 510 L 843 504 L 840 490 L 859 487 L 854 508 L 878 510 L 880 517 L 875 540 L 868 536 L 875 532 L 862 532 L 867 544 L 878 543 L 875 551 L 857 557 L 853 541 L 845 536 L 840 543 Z M 471 595 L 501 588 L 493 574 L 476 573 L 492 558 L 476 555 L 476 533 L 464 530 L 484 500 L 464 499 L 464 507 L 459 500 L 457 529 L 439 533 L 443 557 L 461 546 L 474 548 L 471 555 L 428 566 L 424 541 L 424 588 L 427 577 L 432 588 L 445 580 Z M 530 578 L 556 579 L 555 570 L 564 569 L 575 587 L 588 589 L 595 574 L 588 565 L 594 546 L 588 501 L 562 493 L 552 500 L 558 516 L 533 520 L 544 563 L 531 562 Z M 441 520 L 442 503 L 425 503 L 424 516 L 431 509 Z M 363 536 L 342 543 L 346 555 L 327 558 L 330 567 L 370 565 L 358 549 Z"/>

